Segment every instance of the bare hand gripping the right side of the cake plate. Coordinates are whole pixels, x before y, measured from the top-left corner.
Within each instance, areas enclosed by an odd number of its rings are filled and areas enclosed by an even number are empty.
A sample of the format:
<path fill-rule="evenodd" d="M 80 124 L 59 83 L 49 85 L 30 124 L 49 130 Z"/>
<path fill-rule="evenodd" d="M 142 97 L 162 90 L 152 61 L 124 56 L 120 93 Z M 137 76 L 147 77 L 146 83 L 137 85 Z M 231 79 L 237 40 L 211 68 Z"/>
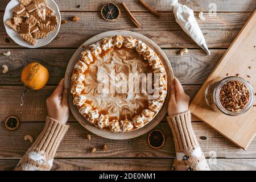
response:
<path fill-rule="evenodd" d="M 168 115 L 183 113 L 188 110 L 189 96 L 185 94 L 180 81 L 175 77 L 170 86 L 171 94 L 168 103 Z"/>

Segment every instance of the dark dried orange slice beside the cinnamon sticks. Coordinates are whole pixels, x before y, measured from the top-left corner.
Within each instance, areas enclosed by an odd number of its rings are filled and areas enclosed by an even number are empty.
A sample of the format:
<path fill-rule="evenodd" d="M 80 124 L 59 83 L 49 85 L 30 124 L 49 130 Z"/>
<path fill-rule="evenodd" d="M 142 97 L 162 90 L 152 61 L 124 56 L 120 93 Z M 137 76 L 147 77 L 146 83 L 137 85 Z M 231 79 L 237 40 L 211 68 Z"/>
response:
<path fill-rule="evenodd" d="M 105 20 L 114 21 L 119 18 L 121 11 L 114 3 L 107 3 L 102 7 L 101 15 Z"/>

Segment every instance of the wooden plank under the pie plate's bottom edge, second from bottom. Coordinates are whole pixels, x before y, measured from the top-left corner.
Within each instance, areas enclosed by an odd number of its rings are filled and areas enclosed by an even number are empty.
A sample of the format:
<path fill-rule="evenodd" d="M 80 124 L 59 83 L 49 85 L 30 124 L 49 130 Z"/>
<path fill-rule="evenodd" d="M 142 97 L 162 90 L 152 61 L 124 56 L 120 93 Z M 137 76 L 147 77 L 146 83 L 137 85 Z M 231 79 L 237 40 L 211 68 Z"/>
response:
<path fill-rule="evenodd" d="M 91 134 L 92 139 L 88 140 L 86 135 L 89 132 L 79 123 L 69 123 L 69 125 L 69 131 L 60 144 L 56 158 L 170 158 L 175 156 L 174 140 L 167 122 L 156 126 L 156 129 L 162 130 L 166 135 L 166 143 L 159 150 L 148 146 L 147 134 L 127 140 L 110 140 Z M 0 158 L 20 158 L 31 146 L 30 142 L 24 140 L 24 136 L 29 134 L 34 138 L 38 137 L 43 126 L 44 123 L 27 122 L 22 123 L 18 130 L 10 132 L 5 129 L 3 123 L 0 123 Z M 207 157 L 256 158 L 256 138 L 247 150 L 242 150 L 205 123 L 193 122 L 192 127 Z M 202 140 L 201 136 L 207 139 Z M 103 144 L 108 146 L 107 151 L 102 150 Z M 97 148 L 94 154 L 90 152 L 92 147 Z"/>

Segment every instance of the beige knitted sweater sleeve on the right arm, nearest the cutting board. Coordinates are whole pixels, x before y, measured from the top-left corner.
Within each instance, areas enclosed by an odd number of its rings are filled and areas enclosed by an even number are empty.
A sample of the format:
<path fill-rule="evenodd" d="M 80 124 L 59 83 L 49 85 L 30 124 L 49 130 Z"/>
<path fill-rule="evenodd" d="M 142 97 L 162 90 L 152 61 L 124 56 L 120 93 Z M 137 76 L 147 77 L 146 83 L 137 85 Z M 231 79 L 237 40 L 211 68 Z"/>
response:
<path fill-rule="evenodd" d="M 171 127 L 172 135 L 174 136 L 176 158 L 173 169 L 177 171 L 209 170 L 207 160 L 191 126 L 191 113 L 185 111 L 167 117 L 167 121 Z"/>

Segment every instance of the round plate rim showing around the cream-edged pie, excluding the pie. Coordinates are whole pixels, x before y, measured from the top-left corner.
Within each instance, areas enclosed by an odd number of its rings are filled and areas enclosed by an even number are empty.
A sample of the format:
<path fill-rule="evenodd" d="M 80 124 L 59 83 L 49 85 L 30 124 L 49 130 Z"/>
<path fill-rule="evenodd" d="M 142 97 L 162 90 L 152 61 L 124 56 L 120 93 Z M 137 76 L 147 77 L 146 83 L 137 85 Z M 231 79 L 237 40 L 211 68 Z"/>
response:
<path fill-rule="evenodd" d="M 77 63 L 77 61 L 79 60 L 81 52 L 84 51 L 86 48 L 88 48 L 88 46 L 90 46 L 91 44 L 96 43 L 99 40 L 104 39 L 108 36 L 115 36 L 115 35 L 122 35 L 122 36 L 126 36 L 126 37 L 133 36 L 134 38 L 136 38 L 138 40 L 142 40 L 142 42 L 146 43 L 147 46 L 154 49 L 156 54 L 158 54 L 160 59 L 162 60 L 164 68 L 166 69 L 168 88 L 170 88 L 170 83 L 174 79 L 174 73 L 172 71 L 171 64 L 170 64 L 166 54 L 162 51 L 162 49 L 156 43 L 154 43 L 152 40 L 148 39 L 146 36 L 138 34 L 137 32 L 125 31 L 125 30 L 113 30 L 113 31 L 103 32 L 101 34 L 98 34 L 98 35 L 93 36 L 92 38 L 86 40 L 86 42 L 84 44 L 82 44 L 77 49 L 77 51 L 73 54 L 73 56 L 71 57 L 71 60 L 69 61 L 69 64 L 68 64 L 68 67 L 67 67 L 67 70 L 65 73 L 65 83 L 64 83 L 65 88 L 67 88 L 69 90 L 71 88 L 71 76 L 72 76 L 73 68 L 74 68 L 75 64 Z M 71 96 L 71 94 L 69 95 L 69 108 L 70 108 L 73 116 L 77 119 L 77 121 L 79 121 L 79 123 L 82 126 L 84 126 L 85 129 L 89 130 L 90 132 L 92 132 L 100 137 L 104 137 L 104 138 L 108 138 L 108 139 L 116 139 L 116 140 L 130 139 L 130 138 L 139 137 L 139 136 L 147 133 L 148 131 L 154 129 L 154 127 L 156 125 L 158 125 L 158 123 L 160 121 L 162 121 L 162 119 L 164 118 L 164 116 L 166 115 L 166 112 L 167 112 L 169 94 L 170 94 L 170 90 L 168 89 L 167 97 L 166 97 L 166 100 L 164 101 L 162 109 L 159 111 L 159 113 L 155 116 L 155 118 L 150 123 L 147 123 L 147 125 L 145 125 L 141 129 L 130 131 L 127 133 L 121 133 L 121 132 L 113 133 L 110 131 L 98 129 L 96 126 L 93 126 L 92 124 L 90 124 L 79 113 L 79 110 L 73 104 L 73 97 Z"/>

